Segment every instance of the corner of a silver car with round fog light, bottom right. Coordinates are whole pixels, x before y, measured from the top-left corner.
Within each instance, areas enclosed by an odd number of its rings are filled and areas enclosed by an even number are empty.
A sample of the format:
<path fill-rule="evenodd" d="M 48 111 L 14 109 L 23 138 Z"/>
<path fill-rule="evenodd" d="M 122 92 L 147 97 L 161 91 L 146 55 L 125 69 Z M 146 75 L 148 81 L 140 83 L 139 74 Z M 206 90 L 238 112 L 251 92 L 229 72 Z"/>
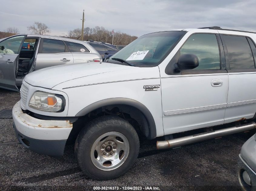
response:
<path fill-rule="evenodd" d="M 244 191 L 256 190 L 256 135 L 244 143 L 238 158 L 238 182 Z"/>

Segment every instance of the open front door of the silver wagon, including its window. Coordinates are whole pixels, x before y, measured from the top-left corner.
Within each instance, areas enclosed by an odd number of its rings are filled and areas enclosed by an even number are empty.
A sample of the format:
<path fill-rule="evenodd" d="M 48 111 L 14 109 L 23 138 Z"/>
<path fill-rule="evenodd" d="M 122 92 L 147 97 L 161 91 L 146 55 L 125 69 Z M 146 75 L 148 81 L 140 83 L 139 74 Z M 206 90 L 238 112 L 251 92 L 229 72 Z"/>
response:
<path fill-rule="evenodd" d="M 19 53 L 27 35 L 15 35 L 0 42 L 0 88 L 18 91 L 16 75 Z"/>

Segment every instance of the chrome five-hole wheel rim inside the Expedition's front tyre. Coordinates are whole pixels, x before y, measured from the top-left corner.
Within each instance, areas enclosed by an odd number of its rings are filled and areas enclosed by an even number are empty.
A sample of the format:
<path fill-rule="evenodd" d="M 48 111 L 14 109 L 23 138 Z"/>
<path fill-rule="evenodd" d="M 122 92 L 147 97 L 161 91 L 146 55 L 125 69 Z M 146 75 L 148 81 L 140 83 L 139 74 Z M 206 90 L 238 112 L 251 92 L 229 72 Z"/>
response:
<path fill-rule="evenodd" d="M 101 135 L 91 147 L 91 161 L 100 170 L 114 170 L 128 157 L 129 142 L 118 132 Z"/>

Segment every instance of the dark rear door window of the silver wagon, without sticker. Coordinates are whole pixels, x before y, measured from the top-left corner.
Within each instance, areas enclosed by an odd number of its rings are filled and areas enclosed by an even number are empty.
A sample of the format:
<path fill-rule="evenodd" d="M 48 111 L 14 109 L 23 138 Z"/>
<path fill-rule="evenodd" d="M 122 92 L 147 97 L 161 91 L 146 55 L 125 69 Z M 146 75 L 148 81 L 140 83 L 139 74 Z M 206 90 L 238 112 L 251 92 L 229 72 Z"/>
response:
<path fill-rule="evenodd" d="M 43 54 L 65 53 L 65 44 L 63 43 L 62 40 L 44 38 L 42 53 Z"/>

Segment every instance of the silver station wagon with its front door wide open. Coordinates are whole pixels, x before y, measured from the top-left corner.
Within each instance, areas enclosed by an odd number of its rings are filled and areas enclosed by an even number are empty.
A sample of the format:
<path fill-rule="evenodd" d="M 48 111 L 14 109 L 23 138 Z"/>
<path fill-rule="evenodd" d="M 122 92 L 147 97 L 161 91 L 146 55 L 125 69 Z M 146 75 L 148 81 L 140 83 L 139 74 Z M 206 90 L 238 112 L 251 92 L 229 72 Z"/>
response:
<path fill-rule="evenodd" d="M 0 41 L 0 88 L 18 90 L 28 73 L 50 66 L 100 62 L 88 43 L 46 35 L 15 35 Z"/>

